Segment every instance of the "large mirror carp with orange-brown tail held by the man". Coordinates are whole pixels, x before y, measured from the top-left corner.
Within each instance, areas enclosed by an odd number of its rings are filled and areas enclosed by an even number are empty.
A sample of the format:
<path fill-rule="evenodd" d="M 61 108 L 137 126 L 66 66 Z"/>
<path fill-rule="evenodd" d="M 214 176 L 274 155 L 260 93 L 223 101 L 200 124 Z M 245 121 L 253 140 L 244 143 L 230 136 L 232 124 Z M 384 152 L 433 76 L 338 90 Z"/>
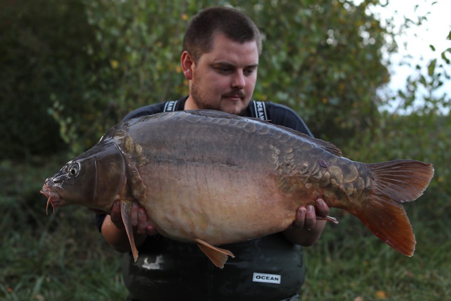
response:
<path fill-rule="evenodd" d="M 218 267 L 216 247 L 287 229 L 296 209 L 322 198 L 357 216 L 407 256 L 415 238 L 403 202 L 418 198 L 430 164 L 350 161 L 331 143 L 269 122 L 219 111 L 178 111 L 113 126 L 87 152 L 48 178 L 47 206 L 109 212 L 117 200 L 136 261 L 132 202 L 166 237 L 197 243 Z"/>

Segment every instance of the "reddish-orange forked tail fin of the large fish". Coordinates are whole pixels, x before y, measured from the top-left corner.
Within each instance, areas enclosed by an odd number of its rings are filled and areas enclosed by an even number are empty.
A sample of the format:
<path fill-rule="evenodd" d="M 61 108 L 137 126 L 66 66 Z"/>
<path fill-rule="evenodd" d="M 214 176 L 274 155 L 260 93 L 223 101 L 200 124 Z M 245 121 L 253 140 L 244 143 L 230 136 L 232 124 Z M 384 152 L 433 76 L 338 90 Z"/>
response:
<path fill-rule="evenodd" d="M 374 180 L 364 208 L 352 212 L 379 239 L 398 252 L 412 256 L 415 236 L 402 203 L 417 199 L 434 174 L 431 164 L 396 160 L 367 164 Z"/>

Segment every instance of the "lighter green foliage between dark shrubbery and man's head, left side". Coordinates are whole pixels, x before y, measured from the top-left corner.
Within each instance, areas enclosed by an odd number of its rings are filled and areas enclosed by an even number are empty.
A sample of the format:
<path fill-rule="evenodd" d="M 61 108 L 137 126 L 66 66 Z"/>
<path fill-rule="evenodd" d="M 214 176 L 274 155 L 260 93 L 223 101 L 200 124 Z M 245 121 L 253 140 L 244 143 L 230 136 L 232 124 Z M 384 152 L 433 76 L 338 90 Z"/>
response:
<path fill-rule="evenodd" d="M 118 114 L 187 93 L 179 58 L 186 4 L 86 1 L 89 23 L 101 45 L 92 55 L 109 62 L 99 70 L 99 97 L 113 100 Z"/>

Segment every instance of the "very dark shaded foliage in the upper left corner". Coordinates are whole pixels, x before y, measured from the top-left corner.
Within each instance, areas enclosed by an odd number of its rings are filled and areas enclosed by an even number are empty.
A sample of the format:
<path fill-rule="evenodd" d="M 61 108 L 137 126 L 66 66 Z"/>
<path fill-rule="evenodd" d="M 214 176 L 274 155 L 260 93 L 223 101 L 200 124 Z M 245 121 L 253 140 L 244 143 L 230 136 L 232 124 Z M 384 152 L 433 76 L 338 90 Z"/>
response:
<path fill-rule="evenodd" d="M 0 153 L 7 158 L 54 153 L 64 144 L 48 114 L 53 102 L 64 103 L 66 115 L 96 111 L 84 97 L 93 67 L 85 47 L 94 38 L 85 8 L 77 0 L 3 1 L 0 32 Z"/>

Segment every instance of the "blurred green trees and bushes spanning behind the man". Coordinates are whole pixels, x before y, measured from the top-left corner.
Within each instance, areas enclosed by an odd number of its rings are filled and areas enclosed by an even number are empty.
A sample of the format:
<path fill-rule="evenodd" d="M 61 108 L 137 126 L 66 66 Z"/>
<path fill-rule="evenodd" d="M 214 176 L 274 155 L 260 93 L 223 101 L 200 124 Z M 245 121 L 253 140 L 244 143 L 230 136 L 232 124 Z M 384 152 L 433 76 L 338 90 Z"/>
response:
<path fill-rule="evenodd" d="M 63 140 L 76 154 L 130 110 L 185 95 L 184 29 L 211 5 L 240 9 L 263 34 L 255 99 L 292 107 L 339 145 L 377 128 L 386 100 L 376 91 L 390 79 L 382 55 L 397 50 L 392 24 L 371 13 L 378 0 L 12 1 L 3 4 L 0 36 L 0 117 L 11 142 L 2 153 L 48 153 Z M 432 80 L 410 79 L 410 93 L 399 94 L 406 106 L 420 84 L 433 90 L 442 80 L 436 65 Z"/>

